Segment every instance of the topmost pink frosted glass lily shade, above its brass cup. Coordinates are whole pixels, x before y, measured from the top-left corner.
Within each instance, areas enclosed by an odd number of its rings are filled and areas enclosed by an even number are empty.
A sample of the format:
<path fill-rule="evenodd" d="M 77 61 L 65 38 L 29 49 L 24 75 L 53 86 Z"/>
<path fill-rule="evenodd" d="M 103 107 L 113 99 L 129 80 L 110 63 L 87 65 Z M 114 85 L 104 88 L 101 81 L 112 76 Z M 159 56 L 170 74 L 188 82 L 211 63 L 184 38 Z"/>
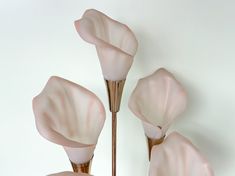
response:
<path fill-rule="evenodd" d="M 138 42 L 124 24 L 94 9 L 87 10 L 75 21 L 81 38 L 96 46 L 106 80 L 124 80 L 132 65 Z"/>

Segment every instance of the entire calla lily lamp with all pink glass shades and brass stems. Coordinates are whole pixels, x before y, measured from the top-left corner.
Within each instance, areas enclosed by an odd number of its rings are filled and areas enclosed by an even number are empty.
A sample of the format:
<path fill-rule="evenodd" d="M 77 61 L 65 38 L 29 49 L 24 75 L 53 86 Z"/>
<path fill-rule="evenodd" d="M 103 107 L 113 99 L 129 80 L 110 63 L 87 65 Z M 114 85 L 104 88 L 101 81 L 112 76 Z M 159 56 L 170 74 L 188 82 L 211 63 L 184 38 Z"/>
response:
<path fill-rule="evenodd" d="M 94 9 L 87 10 L 75 27 L 97 50 L 112 113 L 112 176 L 116 176 L 117 112 L 138 42 L 126 25 Z M 209 163 L 188 139 L 177 132 L 167 135 L 186 104 L 185 89 L 164 68 L 140 79 L 132 92 L 129 108 L 141 120 L 147 137 L 149 176 L 213 175 Z M 76 83 L 54 76 L 33 99 L 33 111 L 39 133 L 64 147 L 74 171 L 51 176 L 89 176 L 105 122 L 99 98 Z"/>

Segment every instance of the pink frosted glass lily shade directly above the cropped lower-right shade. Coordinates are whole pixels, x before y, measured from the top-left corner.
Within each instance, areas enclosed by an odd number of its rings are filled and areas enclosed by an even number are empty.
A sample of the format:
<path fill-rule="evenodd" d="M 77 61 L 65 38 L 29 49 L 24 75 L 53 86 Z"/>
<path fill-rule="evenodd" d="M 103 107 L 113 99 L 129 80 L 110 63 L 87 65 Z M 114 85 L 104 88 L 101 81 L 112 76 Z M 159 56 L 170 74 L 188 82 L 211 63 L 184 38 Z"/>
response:
<path fill-rule="evenodd" d="M 181 84 L 164 68 L 138 81 L 129 99 L 130 110 L 142 120 L 149 138 L 161 138 L 186 108 Z"/>

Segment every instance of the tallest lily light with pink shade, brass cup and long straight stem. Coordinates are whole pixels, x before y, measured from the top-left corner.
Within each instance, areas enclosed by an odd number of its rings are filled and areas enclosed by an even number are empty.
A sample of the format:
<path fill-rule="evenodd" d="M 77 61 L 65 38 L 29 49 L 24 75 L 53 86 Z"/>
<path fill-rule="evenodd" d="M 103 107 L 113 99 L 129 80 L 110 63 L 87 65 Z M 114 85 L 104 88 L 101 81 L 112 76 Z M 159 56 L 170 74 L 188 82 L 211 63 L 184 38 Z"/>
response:
<path fill-rule="evenodd" d="M 112 176 L 116 176 L 117 112 L 138 42 L 126 25 L 94 9 L 87 10 L 75 27 L 85 41 L 95 45 L 100 60 L 112 113 Z"/>

